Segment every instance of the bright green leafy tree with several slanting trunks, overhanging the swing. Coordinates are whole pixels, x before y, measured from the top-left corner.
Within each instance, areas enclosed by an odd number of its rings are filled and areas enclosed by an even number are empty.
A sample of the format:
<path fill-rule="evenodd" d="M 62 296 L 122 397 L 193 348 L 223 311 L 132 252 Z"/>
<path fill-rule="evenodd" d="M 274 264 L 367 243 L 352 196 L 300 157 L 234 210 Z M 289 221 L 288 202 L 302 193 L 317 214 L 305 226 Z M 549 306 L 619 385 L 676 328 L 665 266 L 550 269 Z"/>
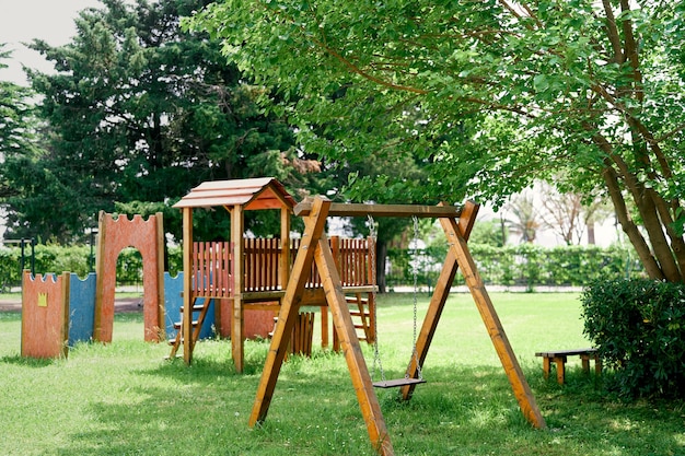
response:
<path fill-rule="evenodd" d="M 501 203 L 553 176 L 561 191 L 601 189 L 649 276 L 682 281 L 684 13 L 657 0 L 227 0 L 190 26 L 281 87 L 310 151 L 429 162 L 398 198 Z"/>

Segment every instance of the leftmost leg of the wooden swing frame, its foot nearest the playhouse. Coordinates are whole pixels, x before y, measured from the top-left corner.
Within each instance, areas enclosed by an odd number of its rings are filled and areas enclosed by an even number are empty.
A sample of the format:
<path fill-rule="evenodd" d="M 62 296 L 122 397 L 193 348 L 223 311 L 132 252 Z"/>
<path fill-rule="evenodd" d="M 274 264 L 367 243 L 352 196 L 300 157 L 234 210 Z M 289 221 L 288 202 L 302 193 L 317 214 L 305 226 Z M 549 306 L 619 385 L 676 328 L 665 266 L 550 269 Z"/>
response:
<path fill-rule="evenodd" d="M 330 201 L 317 198 L 314 201 L 312 213 L 304 219 L 305 230 L 302 235 L 302 243 L 300 244 L 290 280 L 286 288 L 286 295 L 278 314 L 278 325 L 276 325 L 274 336 L 271 337 L 271 344 L 266 356 L 262 379 L 259 381 L 257 395 L 249 416 L 249 426 L 263 422 L 269 411 L 278 374 L 288 352 L 288 342 L 290 342 L 292 328 L 298 316 L 298 306 L 302 299 L 304 284 L 312 270 L 316 244 L 326 226 L 329 207 Z"/>

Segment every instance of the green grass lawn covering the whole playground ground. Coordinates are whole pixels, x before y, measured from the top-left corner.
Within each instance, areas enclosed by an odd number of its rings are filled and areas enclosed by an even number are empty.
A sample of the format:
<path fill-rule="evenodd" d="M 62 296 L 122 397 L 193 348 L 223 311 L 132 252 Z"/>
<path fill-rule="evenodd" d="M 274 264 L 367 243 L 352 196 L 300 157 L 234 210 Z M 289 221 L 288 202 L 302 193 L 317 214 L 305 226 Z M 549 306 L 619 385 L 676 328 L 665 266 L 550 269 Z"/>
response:
<path fill-rule="evenodd" d="M 492 301 L 548 429 L 523 419 L 471 296 L 458 294 L 433 339 L 428 383 L 409 402 L 379 391 L 397 455 L 685 455 L 683 402 L 623 404 L 576 360 L 566 386 L 542 379 L 535 351 L 588 344 L 577 295 L 494 293 Z M 381 296 L 388 377 L 410 356 L 411 314 L 410 296 Z M 68 360 L 25 360 L 20 319 L 0 313 L 2 455 L 374 454 L 340 355 L 316 350 L 287 362 L 266 422 L 249 429 L 264 341 L 246 342 L 242 375 L 228 341 L 199 343 L 187 367 L 163 360 L 165 344 L 142 342 L 141 315 L 126 314 L 111 344 L 80 344 Z M 372 350 L 363 350 L 371 365 Z"/>

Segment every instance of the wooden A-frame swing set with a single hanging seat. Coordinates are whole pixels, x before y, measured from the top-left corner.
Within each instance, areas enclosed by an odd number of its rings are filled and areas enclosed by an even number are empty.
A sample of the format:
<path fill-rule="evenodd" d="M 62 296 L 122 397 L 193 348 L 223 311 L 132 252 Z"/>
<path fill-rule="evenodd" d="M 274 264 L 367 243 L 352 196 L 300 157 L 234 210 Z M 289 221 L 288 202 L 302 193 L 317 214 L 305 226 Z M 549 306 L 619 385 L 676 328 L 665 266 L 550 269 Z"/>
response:
<path fill-rule="evenodd" d="M 315 265 L 371 443 L 381 455 L 394 454 L 385 420 L 373 389 L 374 385 L 346 302 L 340 276 L 325 234 L 328 217 L 371 215 L 374 218 L 437 218 L 440 220 L 449 244 L 448 255 L 440 278 L 436 283 L 420 334 L 415 340 L 415 353 L 408 363 L 405 377 L 388 381 L 386 386 L 399 387 L 402 398 L 408 400 L 411 398 L 417 384 L 422 383 L 420 366 L 426 360 L 456 270 L 461 267 L 466 285 L 471 290 L 523 414 L 535 428 L 545 428 L 545 420 L 537 408 L 535 398 L 466 245 L 478 212 L 477 204 L 471 201 L 463 208 L 454 206 L 344 204 L 333 203 L 327 198 L 320 196 L 299 203 L 294 208 L 294 212 L 295 215 L 304 219 L 305 230 L 281 300 L 279 324 L 275 328 L 257 388 L 249 417 L 251 426 L 266 420 L 278 375 L 288 353 L 289 339 L 298 317 L 298 309 L 303 301 L 309 271 Z"/>

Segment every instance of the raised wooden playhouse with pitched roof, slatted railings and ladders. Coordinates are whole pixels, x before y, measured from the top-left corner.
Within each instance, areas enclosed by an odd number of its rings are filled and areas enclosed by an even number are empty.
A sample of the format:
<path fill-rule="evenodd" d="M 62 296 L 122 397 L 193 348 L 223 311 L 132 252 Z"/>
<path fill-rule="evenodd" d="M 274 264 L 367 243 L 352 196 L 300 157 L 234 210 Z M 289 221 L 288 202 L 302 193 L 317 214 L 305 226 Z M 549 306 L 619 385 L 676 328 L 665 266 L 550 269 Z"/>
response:
<path fill-rule="evenodd" d="M 207 182 L 181 199 L 175 208 L 183 211 L 183 318 L 179 337 L 174 340 L 170 356 L 183 347 L 186 363 L 193 360 L 197 327 L 207 315 L 205 303 L 217 302 L 217 321 L 222 336 L 231 336 L 231 352 L 237 372 L 243 371 L 245 312 L 271 311 L 276 315 L 286 294 L 292 253 L 301 248 L 300 239 L 290 238 L 290 218 L 295 201 L 276 179 L 255 178 Z M 206 243 L 193 241 L 193 211 L 199 208 L 224 208 L 231 217 L 230 242 Z M 255 239 L 244 237 L 244 212 L 247 210 L 280 210 L 280 237 Z M 373 278 L 369 264 L 372 246 L 367 239 L 332 238 L 341 287 L 347 300 L 359 311 L 358 325 L 364 338 L 373 340 L 370 308 L 374 305 L 371 292 Z M 307 271 L 300 305 L 327 305 L 324 289 L 314 267 Z M 269 315 L 269 314 L 267 314 Z M 322 344 L 328 341 L 328 314 L 322 316 Z M 230 328 L 230 331 L 227 331 Z M 292 329 L 292 327 L 291 327 Z"/>

